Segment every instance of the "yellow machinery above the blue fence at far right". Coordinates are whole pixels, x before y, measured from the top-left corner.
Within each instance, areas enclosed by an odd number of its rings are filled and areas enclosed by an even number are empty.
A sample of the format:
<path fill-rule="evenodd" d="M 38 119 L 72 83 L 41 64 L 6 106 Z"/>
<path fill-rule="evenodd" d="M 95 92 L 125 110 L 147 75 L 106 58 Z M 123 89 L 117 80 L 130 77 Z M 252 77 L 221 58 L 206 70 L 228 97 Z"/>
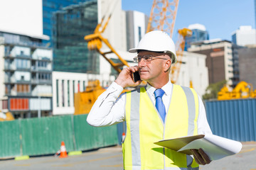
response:
<path fill-rule="evenodd" d="M 252 84 L 248 84 L 245 81 L 240 81 L 240 83 L 235 86 L 235 88 L 230 91 L 228 86 L 223 86 L 218 92 L 218 100 L 230 100 L 237 98 L 255 98 L 256 89 L 253 91 Z"/>

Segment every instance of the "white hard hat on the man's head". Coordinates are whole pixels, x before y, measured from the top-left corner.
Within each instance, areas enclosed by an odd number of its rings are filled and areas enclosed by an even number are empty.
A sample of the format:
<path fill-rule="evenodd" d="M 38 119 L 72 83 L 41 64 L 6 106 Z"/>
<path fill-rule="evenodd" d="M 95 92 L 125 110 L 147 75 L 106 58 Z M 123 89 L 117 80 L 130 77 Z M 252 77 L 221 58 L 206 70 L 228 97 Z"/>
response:
<path fill-rule="evenodd" d="M 177 62 L 174 41 L 167 33 L 161 30 L 153 30 L 146 33 L 142 40 L 139 41 L 139 45 L 136 48 L 130 49 L 129 52 L 138 52 L 138 50 L 166 52 L 171 54 L 172 64 Z"/>

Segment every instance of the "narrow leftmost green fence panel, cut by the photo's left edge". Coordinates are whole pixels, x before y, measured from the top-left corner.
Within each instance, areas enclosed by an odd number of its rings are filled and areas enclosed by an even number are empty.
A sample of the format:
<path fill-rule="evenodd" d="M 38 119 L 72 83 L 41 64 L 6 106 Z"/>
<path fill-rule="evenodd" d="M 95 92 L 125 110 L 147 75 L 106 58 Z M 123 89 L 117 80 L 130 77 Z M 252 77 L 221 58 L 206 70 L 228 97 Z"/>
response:
<path fill-rule="evenodd" d="M 0 122 L 0 157 L 21 154 L 18 120 Z"/>

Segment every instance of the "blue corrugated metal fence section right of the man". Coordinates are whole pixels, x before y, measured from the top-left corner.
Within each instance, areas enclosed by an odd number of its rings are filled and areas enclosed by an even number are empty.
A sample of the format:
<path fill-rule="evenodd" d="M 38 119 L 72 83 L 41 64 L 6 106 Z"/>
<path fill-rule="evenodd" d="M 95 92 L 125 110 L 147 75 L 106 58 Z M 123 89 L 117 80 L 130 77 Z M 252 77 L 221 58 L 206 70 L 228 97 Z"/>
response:
<path fill-rule="evenodd" d="M 205 103 L 213 134 L 240 142 L 256 141 L 256 98 Z"/>

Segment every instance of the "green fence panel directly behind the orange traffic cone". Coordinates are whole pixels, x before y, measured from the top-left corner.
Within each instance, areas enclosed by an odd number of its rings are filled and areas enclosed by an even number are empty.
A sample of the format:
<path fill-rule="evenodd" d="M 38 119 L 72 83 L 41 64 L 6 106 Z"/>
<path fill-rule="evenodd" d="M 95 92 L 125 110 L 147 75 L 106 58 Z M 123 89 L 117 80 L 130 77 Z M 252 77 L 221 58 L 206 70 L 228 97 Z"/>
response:
<path fill-rule="evenodd" d="M 74 150 L 72 116 L 21 120 L 22 154 L 54 154 L 65 142 L 67 151 Z"/>

